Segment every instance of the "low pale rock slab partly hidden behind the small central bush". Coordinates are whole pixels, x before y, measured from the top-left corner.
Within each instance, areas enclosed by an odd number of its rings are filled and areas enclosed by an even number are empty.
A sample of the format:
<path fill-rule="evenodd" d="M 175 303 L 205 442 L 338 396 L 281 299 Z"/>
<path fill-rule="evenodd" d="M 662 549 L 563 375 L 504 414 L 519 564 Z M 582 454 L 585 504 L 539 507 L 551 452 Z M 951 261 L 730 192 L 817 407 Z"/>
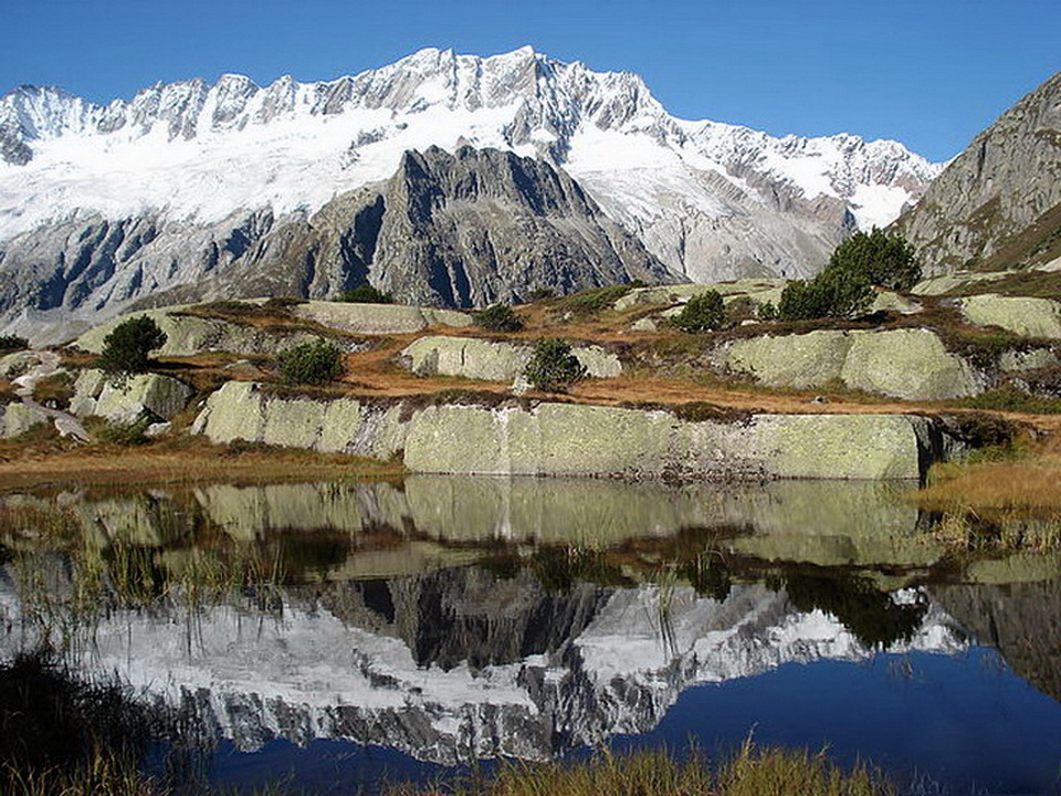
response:
<path fill-rule="evenodd" d="M 401 353 L 418 376 L 460 376 L 489 381 L 511 381 L 521 375 L 534 353 L 533 346 L 476 337 L 421 337 Z M 592 378 L 622 375 L 619 357 L 600 346 L 571 349 Z"/>

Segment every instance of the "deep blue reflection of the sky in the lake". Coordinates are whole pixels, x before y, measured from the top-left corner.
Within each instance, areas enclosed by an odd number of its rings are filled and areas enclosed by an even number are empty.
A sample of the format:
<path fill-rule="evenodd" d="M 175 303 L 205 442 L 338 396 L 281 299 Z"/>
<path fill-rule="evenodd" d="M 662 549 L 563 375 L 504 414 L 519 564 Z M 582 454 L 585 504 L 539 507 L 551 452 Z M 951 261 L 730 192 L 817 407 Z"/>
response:
<path fill-rule="evenodd" d="M 828 746 L 844 765 L 869 758 L 901 784 L 927 783 L 928 793 L 1061 792 L 1061 705 L 985 648 L 959 656 L 882 654 L 862 663 L 789 663 L 755 678 L 695 685 L 655 730 L 611 745 L 665 744 L 682 753 L 692 741 L 713 755 L 753 731 L 761 744 L 812 752 Z M 248 787 L 290 775 L 315 794 L 339 794 L 395 779 L 428 782 L 452 771 L 382 747 L 314 741 L 301 748 L 276 741 L 254 754 L 222 745 L 212 775 Z"/>

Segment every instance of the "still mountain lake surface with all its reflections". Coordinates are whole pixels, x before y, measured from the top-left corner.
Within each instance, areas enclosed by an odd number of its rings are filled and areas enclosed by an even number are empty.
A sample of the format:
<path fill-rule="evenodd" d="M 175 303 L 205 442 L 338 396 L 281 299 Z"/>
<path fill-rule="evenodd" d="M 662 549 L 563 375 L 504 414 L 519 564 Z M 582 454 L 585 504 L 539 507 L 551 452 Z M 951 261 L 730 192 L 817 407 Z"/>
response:
<path fill-rule="evenodd" d="M 0 657 L 116 678 L 224 785 L 750 735 L 920 793 L 1061 793 L 1061 562 L 959 566 L 932 521 L 872 483 L 8 495 Z"/>

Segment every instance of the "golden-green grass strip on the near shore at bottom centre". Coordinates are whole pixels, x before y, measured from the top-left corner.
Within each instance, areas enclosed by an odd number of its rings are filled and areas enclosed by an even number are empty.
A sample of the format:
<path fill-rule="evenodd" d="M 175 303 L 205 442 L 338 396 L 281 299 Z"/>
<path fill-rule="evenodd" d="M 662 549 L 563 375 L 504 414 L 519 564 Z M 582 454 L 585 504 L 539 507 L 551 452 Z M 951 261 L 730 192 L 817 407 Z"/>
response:
<path fill-rule="evenodd" d="M 700 755 L 674 761 L 665 750 L 574 764 L 505 765 L 491 781 L 443 788 L 393 788 L 402 796 L 883 796 L 895 789 L 863 765 L 845 773 L 824 754 L 759 748 L 750 742 L 717 769 Z"/>

